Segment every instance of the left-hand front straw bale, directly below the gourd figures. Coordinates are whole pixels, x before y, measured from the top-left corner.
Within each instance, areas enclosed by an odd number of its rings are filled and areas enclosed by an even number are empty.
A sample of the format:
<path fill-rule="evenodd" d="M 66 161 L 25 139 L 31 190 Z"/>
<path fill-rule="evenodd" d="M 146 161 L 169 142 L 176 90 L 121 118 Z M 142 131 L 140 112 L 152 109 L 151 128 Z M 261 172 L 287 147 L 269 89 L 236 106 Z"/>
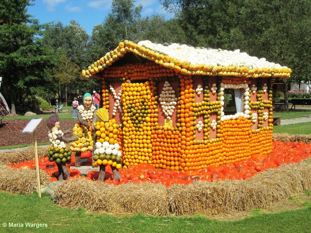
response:
<path fill-rule="evenodd" d="M 143 212 L 150 215 L 169 212 L 165 186 L 151 183 L 113 186 L 86 179 L 71 179 L 55 188 L 54 201 L 66 208 L 81 207 L 93 212 Z"/>

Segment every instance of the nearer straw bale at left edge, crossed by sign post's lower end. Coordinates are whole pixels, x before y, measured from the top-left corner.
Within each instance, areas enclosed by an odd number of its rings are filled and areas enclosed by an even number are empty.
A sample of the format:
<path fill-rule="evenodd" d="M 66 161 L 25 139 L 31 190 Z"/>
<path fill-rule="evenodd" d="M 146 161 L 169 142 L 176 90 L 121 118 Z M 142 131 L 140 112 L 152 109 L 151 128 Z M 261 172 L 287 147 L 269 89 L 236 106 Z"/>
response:
<path fill-rule="evenodd" d="M 49 184 L 49 175 L 40 172 L 40 182 L 42 185 Z M 12 169 L 5 165 L 0 166 L 0 191 L 13 194 L 31 194 L 37 188 L 36 171 L 33 169 Z"/>

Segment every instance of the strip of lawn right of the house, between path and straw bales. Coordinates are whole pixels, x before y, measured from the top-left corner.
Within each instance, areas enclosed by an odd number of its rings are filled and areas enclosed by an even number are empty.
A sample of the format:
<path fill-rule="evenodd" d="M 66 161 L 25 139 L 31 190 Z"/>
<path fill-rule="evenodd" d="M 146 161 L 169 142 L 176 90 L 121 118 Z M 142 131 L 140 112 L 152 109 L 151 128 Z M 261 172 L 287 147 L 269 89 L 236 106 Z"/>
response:
<path fill-rule="evenodd" d="M 303 122 L 303 123 L 296 123 L 290 125 L 281 125 L 281 126 L 274 126 L 273 133 L 281 134 L 295 134 L 295 135 L 310 135 L 311 134 L 311 123 L 310 122 Z"/>

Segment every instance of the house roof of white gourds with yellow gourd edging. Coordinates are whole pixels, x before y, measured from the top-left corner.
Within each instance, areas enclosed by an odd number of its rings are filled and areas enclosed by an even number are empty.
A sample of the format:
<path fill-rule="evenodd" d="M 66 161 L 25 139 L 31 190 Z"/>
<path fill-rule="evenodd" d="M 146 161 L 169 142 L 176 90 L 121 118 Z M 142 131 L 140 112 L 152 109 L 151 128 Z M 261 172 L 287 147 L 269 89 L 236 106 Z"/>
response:
<path fill-rule="evenodd" d="M 291 73 L 291 69 L 286 66 L 268 62 L 265 58 L 249 56 L 241 53 L 239 49 L 228 51 L 194 48 L 177 43 L 165 46 L 149 40 L 136 44 L 125 40 L 116 49 L 91 64 L 87 70 L 83 70 L 82 75 L 91 78 L 129 52 L 184 75 L 289 78 Z"/>

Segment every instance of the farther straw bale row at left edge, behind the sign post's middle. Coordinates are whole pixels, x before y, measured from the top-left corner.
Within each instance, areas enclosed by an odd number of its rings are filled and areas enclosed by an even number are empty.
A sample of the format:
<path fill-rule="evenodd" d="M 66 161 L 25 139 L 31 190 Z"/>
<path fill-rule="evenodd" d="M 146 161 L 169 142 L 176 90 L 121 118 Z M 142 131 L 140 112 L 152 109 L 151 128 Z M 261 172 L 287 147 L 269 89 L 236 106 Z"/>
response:
<path fill-rule="evenodd" d="M 38 157 L 44 158 L 47 155 L 46 147 L 38 147 Z M 0 152 L 0 165 L 6 165 L 8 163 L 20 163 L 26 160 L 35 159 L 35 147 L 30 146 L 25 149 L 20 149 L 12 152 Z"/>

